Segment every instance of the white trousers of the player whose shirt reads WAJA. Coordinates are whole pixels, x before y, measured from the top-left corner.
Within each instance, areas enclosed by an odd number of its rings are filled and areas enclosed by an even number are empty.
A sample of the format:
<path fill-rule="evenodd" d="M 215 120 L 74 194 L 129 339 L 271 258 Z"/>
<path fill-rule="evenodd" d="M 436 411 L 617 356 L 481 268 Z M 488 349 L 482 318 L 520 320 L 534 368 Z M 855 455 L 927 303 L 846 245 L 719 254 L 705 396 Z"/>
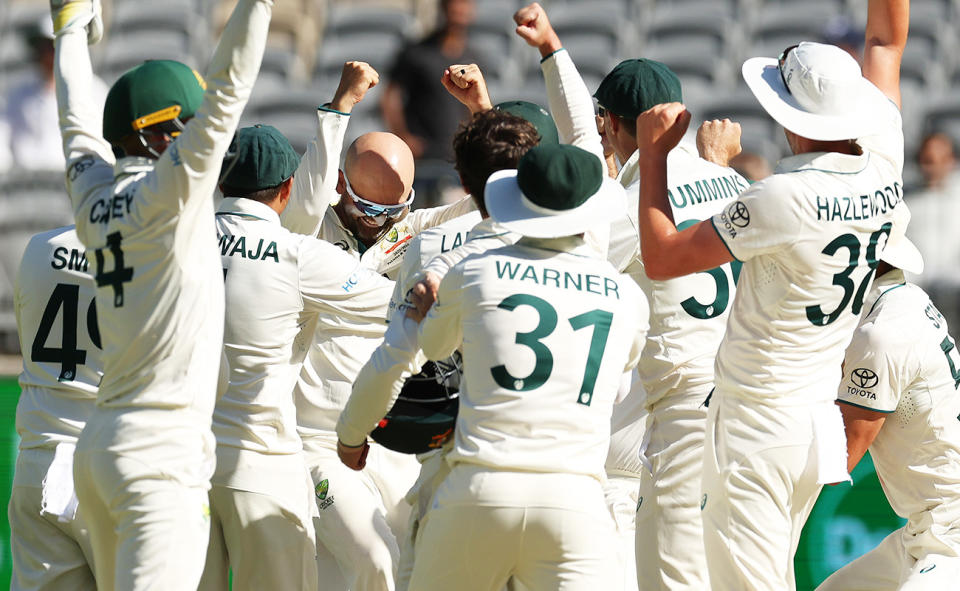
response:
<path fill-rule="evenodd" d="M 230 589 L 229 569 L 233 591 L 317 589 L 316 539 L 308 505 L 312 491 L 305 478 L 288 483 L 288 498 L 211 487 L 210 545 L 200 591 Z"/>

